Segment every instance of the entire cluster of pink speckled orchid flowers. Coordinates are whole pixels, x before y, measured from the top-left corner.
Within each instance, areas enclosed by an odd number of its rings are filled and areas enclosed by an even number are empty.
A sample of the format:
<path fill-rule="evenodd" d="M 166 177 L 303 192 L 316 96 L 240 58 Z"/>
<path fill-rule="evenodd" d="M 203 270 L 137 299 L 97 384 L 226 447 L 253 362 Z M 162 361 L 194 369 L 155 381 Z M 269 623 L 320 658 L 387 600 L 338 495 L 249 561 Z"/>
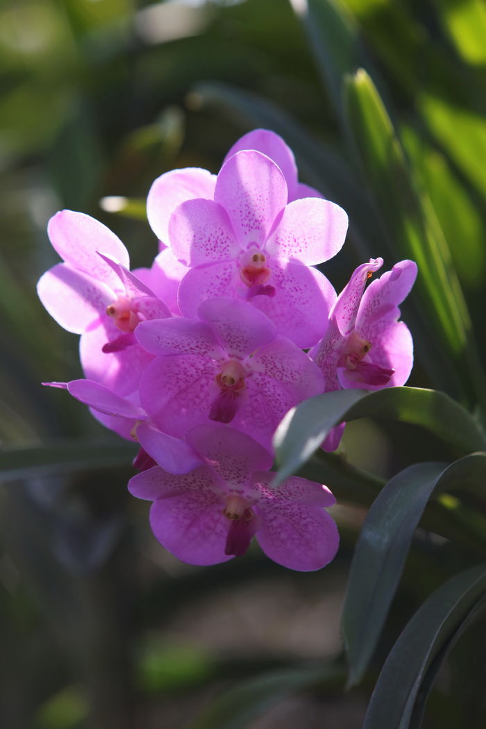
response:
<path fill-rule="evenodd" d="M 114 233 L 78 212 L 50 220 L 63 259 L 38 292 L 81 335 L 85 379 L 67 389 L 107 428 L 139 445 L 128 488 L 153 502 L 155 536 L 209 565 L 252 537 L 274 561 L 321 569 L 337 529 L 326 486 L 272 487 L 273 434 L 299 402 L 342 388 L 402 385 L 412 338 L 399 304 L 417 267 L 358 266 L 338 296 L 315 268 L 340 251 L 348 216 L 300 183 L 291 149 L 268 130 L 243 136 L 219 174 L 162 174 L 147 215 L 160 241 L 151 268 L 130 271 Z M 323 447 L 339 445 L 339 426 Z"/>

